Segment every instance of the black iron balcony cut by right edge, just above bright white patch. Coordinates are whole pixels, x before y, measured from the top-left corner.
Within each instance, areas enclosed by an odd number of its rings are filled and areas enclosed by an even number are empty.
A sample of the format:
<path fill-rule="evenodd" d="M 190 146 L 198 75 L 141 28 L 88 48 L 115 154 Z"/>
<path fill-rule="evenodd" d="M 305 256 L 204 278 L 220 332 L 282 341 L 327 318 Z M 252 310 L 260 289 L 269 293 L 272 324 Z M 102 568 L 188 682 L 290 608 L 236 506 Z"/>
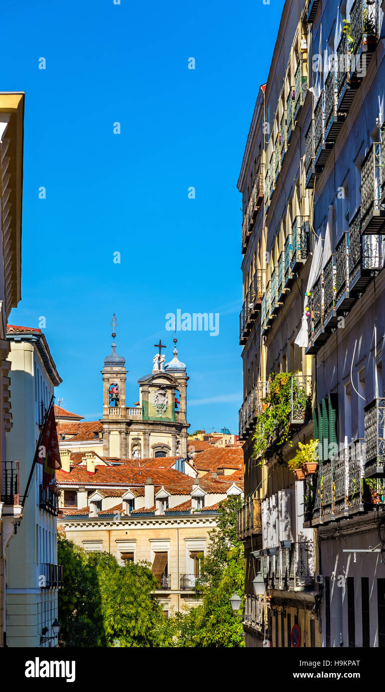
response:
<path fill-rule="evenodd" d="M 385 205 L 382 203 L 381 145 L 371 145 L 361 165 L 361 233 L 382 233 L 385 226 Z"/>

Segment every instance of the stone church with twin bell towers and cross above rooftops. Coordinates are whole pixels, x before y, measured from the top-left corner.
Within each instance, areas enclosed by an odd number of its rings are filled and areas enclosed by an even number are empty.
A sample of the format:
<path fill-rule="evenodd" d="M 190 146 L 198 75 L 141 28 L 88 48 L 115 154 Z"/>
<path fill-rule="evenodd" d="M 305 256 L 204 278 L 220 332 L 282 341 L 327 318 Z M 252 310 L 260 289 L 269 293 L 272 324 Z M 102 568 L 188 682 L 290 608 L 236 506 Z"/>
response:
<path fill-rule="evenodd" d="M 187 457 L 186 365 L 179 361 L 177 339 L 170 363 L 159 353 L 153 358 L 152 372 L 138 380 L 139 401 L 126 406 L 125 358 L 118 356 L 115 344 L 115 316 L 112 320 L 112 350 L 102 372 L 103 457 L 141 459 L 143 457 Z"/>

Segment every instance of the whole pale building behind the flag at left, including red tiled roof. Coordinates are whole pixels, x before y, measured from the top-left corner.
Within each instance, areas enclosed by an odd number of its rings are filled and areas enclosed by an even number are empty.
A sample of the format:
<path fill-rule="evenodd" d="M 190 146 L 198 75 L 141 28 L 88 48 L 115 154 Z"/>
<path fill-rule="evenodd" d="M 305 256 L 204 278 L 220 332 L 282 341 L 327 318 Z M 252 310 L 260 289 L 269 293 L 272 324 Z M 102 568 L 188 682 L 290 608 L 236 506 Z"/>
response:
<path fill-rule="evenodd" d="M 19 461 L 19 485 L 25 492 L 35 449 L 55 386 L 61 383 L 40 329 L 8 325 L 13 425 L 8 453 Z M 8 549 L 7 646 L 57 645 L 52 623 L 57 619 L 57 593 L 62 568 L 57 565 L 58 498 L 53 484 L 42 488 L 42 464 L 36 464 L 23 521 Z"/>

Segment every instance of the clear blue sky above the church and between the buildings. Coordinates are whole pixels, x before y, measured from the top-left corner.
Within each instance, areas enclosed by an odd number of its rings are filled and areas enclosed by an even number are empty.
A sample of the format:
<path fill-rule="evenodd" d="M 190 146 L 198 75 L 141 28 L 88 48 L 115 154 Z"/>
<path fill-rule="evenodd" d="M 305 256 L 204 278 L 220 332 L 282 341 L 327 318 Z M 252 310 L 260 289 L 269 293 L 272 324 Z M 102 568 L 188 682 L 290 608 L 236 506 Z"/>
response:
<path fill-rule="evenodd" d="M 166 313 L 212 312 L 218 336 L 177 334 L 190 431 L 238 432 L 236 183 L 282 8 L 282 0 L 3 6 L 0 88 L 26 93 L 22 300 L 9 322 L 37 327 L 46 318 L 64 408 L 100 417 L 112 313 L 132 406 L 159 338 L 172 358 Z"/>

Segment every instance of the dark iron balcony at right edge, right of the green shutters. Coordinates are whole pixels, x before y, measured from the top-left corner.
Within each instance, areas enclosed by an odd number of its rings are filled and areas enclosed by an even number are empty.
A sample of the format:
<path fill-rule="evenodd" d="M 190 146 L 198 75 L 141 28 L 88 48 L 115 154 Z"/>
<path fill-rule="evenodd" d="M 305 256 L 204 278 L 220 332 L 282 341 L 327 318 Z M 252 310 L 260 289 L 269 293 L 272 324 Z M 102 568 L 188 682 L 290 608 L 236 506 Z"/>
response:
<path fill-rule="evenodd" d="M 373 399 L 364 407 L 365 477 L 385 475 L 385 399 Z"/>

